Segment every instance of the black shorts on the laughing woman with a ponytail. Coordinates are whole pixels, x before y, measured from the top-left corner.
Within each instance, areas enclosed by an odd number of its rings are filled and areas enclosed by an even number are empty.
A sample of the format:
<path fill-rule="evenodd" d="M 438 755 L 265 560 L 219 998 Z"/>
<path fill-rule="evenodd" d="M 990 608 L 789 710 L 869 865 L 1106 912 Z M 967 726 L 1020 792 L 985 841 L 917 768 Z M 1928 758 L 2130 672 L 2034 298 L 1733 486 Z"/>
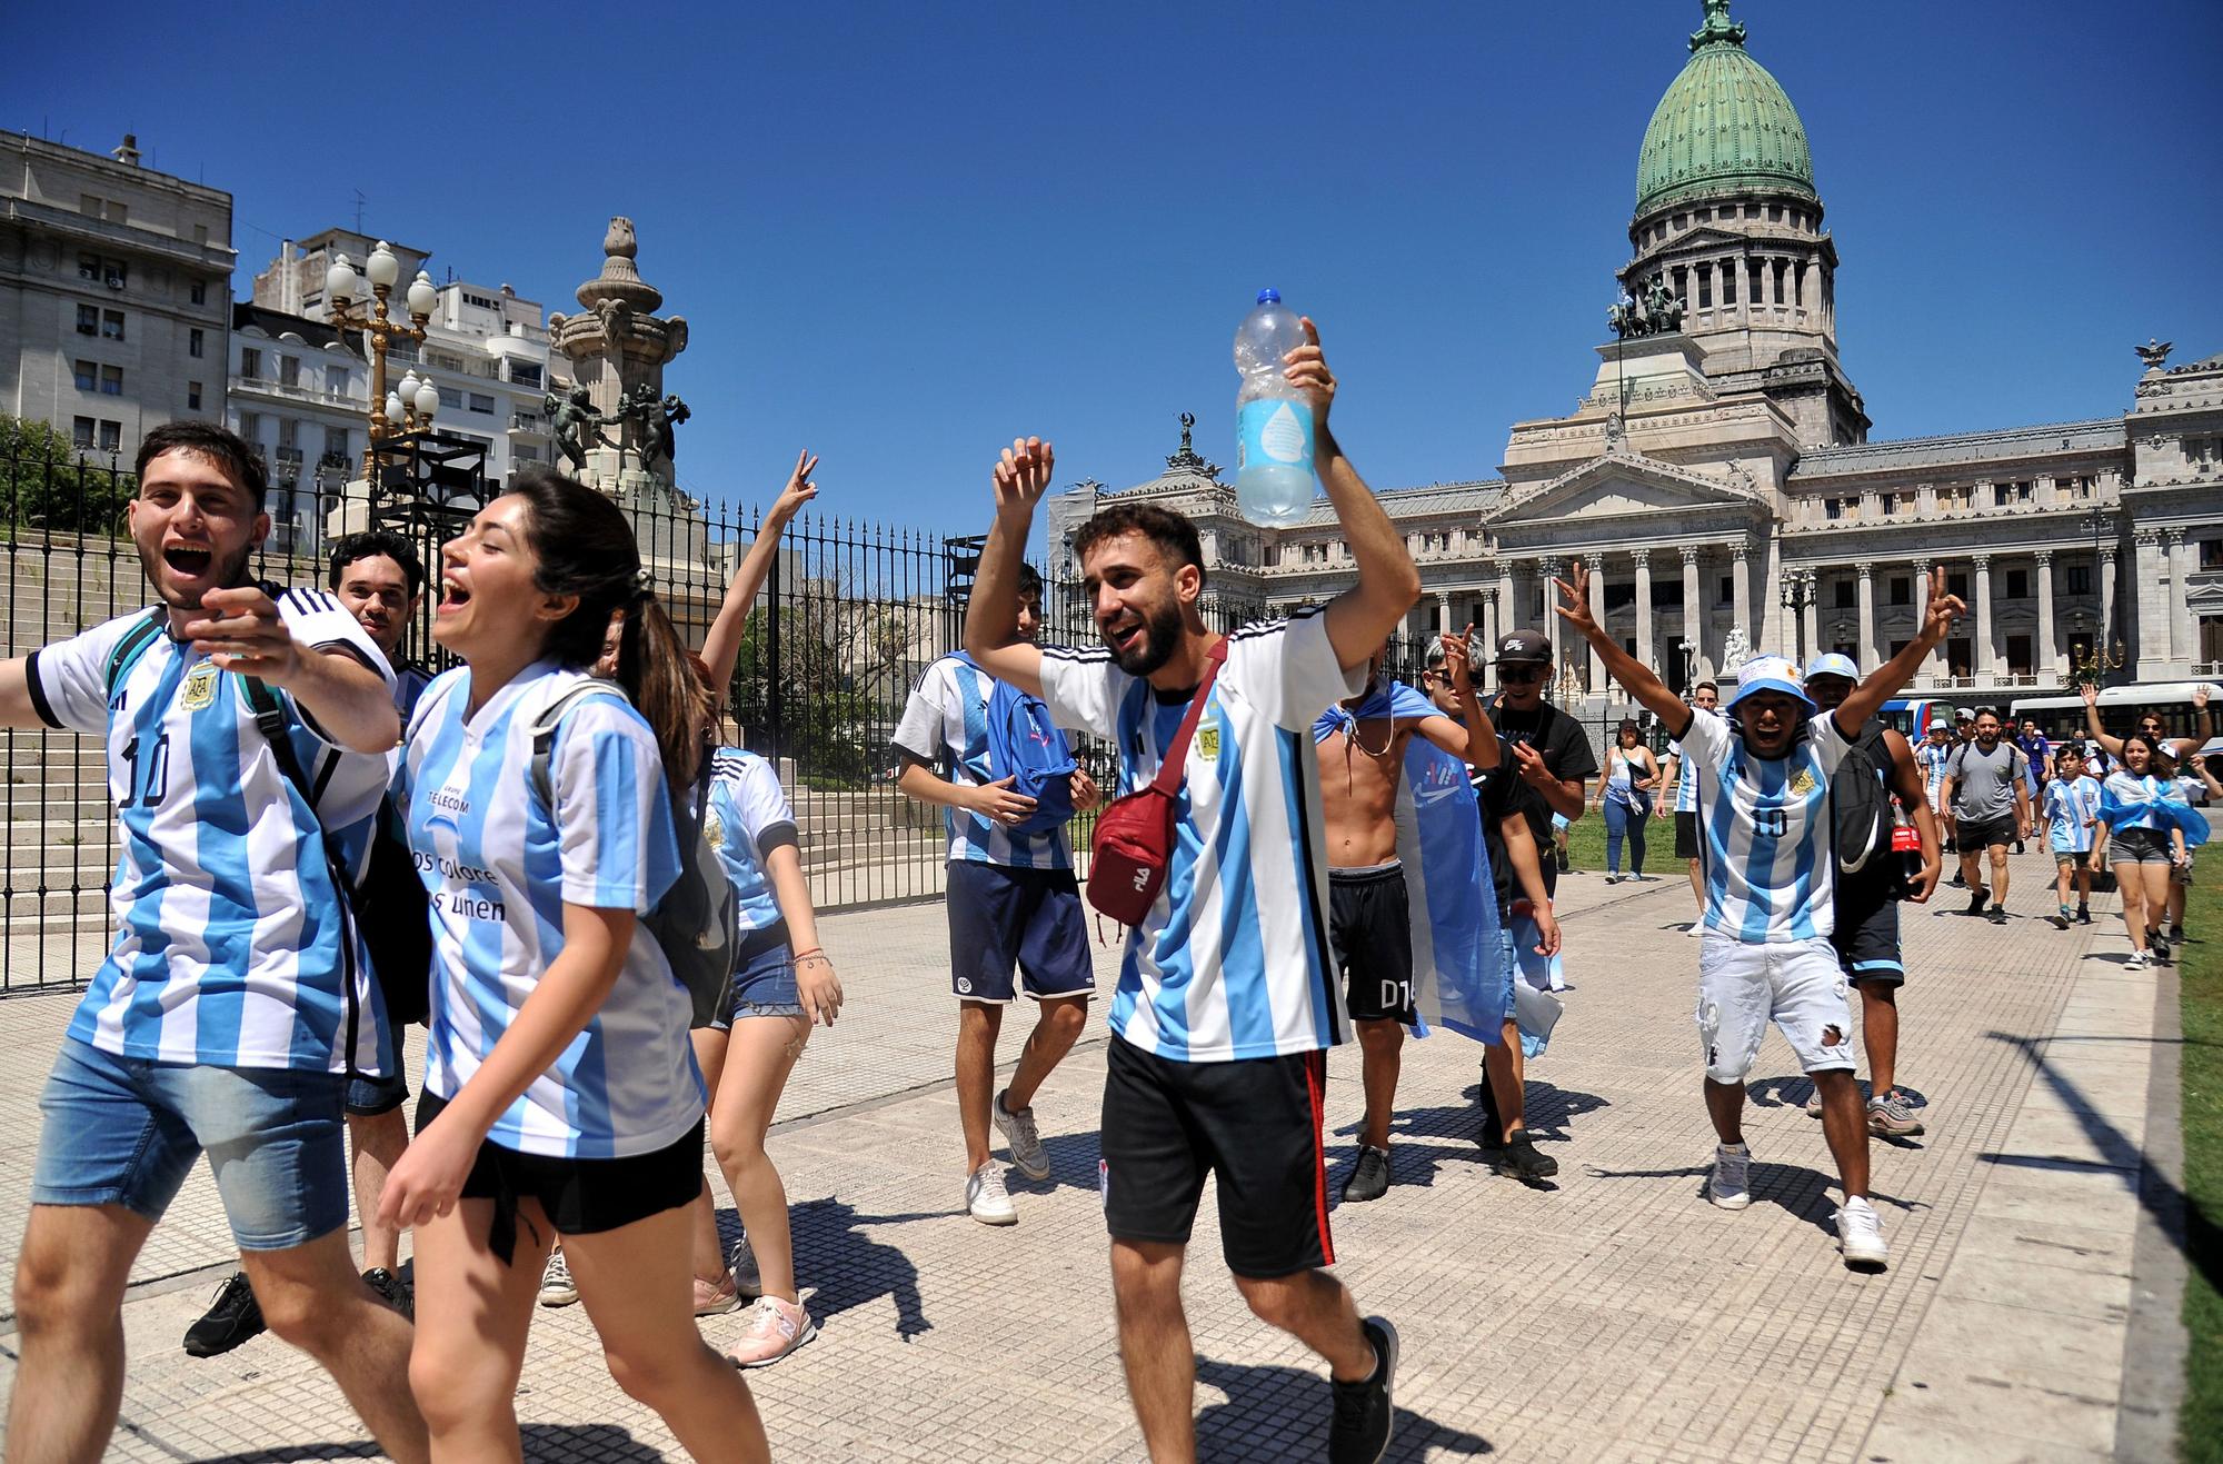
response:
<path fill-rule="evenodd" d="M 427 1092 L 418 1099 L 418 1132 L 440 1117 L 447 1099 Z M 558 1159 L 502 1148 L 494 1139 L 478 1146 L 471 1173 L 462 1181 L 465 1199 L 496 1201 L 496 1255 L 509 1259 L 502 1246 L 505 1215 L 516 1215 L 518 1199 L 538 1199 L 558 1235 L 598 1235 L 629 1226 L 649 1215 L 662 1215 L 702 1193 L 702 1121 L 678 1141 L 647 1155 L 625 1159 Z"/>

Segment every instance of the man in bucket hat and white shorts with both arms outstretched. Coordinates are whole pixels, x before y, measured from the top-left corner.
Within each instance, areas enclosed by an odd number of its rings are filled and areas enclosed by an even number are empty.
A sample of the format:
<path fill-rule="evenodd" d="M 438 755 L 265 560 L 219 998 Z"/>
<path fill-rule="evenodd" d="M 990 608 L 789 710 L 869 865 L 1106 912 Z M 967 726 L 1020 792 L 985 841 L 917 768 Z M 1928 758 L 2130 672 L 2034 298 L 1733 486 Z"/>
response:
<path fill-rule="evenodd" d="M 1883 1266 L 1890 1250 L 1867 1201 L 1867 1121 L 1852 1081 L 1852 1006 L 1830 943 L 1836 928 L 1830 779 L 1852 734 L 1945 643 L 1963 605 L 1945 594 L 1945 572 L 1936 570 L 1921 634 L 1852 688 L 1834 712 L 1816 712 L 1796 665 L 1754 656 L 1738 672 L 1729 696 L 1738 721 L 1729 723 L 1683 705 L 1652 667 L 1605 634 L 1589 614 L 1589 574 L 1581 563 L 1572 583 L 1554 583 L 1561 619 L 1596 647 L 1607 674 L 1661 719 L 1698 768 L 1705 850 L 1698 1035 L 1705 1106 L 1721 1135 L 1707 1197 L 1725 1210 L 1752 1204 L 1745 1075 L 1774 1021 L 1823 1099 L 1823 1135 L 1845 1188 L 1836 1213 L 1845 1264 Z"/>

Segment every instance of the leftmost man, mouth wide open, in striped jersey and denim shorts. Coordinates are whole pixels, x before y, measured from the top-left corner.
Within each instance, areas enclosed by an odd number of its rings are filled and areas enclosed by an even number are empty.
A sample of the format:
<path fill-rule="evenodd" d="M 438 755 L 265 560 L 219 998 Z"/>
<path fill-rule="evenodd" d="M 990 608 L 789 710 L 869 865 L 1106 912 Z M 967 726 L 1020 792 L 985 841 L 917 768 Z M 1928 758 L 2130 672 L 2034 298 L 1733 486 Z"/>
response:
<path fill-rule="evenodd" d="M 129 523 L 160 607 L 0 665 L 0 723 L 107 736 L 122 837 L 116 946 L 40 1099 L 11 1457 L 100 1457 L 124 1282 L 202 1150 L 271 1331 L 389 1455 L 427 1457 L 409 1322 L 347 1253 L 347 1077 L 393 1052 L 325 854 L 378 808 L 400 723 L 338 601 L 251 581 L 262 494 L 238 436 L 156 427 Z M 276 710 L 258 721 L 256 701 Z"/>

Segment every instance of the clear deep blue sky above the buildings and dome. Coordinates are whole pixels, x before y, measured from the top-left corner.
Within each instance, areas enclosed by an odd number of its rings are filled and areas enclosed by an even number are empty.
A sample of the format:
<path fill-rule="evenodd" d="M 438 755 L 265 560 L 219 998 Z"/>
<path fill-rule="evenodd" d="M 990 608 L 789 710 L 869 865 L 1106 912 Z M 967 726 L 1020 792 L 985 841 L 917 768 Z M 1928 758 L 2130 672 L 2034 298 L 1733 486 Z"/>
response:
<path fill-rule="evenodd" d="M 1232 458 L 1229 338 L 1320 320 L 1376 487 L 1487 478 L 1569 412 L 1627 258 L 1636 147 L 1698 0 L 754 4 L 365 11 L 124 0 L 11 27 L 0 125 L 236 196 L 238 289 L 362 222 L 551 309 L 611 214 L 685 314 L 680 481 L 985 525 L 987 467 L 1149 478 L 1196 412 Z M 189 16 L 189 18 L 187 18 Z M 1876 438 L 2127 409 L 2132 343 L 2223 349 L 2223 4 L 1741 0 L 1836 236 Z M 396 78 L 405 58 L 427 65 Z M 345 105 L 342 98 L 358 98 Z M 67 136 L 64 136 L 67 129 Z"/>

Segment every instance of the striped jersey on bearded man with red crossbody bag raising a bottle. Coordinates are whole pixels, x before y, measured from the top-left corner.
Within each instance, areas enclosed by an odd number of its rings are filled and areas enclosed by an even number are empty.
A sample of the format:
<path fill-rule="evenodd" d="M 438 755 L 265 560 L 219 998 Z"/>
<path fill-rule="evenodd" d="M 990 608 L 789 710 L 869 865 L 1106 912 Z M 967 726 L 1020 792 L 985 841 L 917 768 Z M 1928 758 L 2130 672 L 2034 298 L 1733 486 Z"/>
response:
<path fill-rule="evenodd" d="M 1174 859 L 1127 932 L 1112 1030 L 1176 1061 L 1283 1057 L 1349 1035 L 1327 950 L 1327 852 L 1312 723 L 1356 696 L 1318 610 L 1245 625 L 1189 743 Z M 1107 650 L 1043 650 L 1060 725 L 1118 743 L 1120 792 L 1158 774 L 1187 701 L 1163 703 Z"/>

